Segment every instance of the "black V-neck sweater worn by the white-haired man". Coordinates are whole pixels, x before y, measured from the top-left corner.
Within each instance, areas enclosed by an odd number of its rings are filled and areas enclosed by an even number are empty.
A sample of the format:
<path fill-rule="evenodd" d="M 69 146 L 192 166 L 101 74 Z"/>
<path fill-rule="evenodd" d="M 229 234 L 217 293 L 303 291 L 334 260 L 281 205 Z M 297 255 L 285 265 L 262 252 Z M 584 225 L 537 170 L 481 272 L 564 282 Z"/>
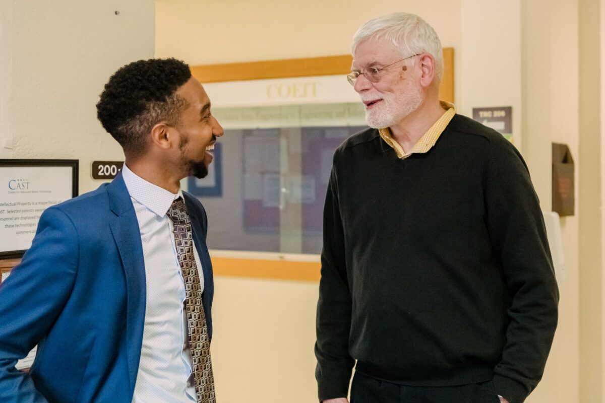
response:
<path fill-rule="evenodd" d="M 317 312 L 319 399 L 344 397 L 354 360 L 404 385 L 493 379 L 521 403 L 541 378 L 558 289 L 525 162 L 455 115 L 405 160 L 376 129 L 336 150 Z"/>

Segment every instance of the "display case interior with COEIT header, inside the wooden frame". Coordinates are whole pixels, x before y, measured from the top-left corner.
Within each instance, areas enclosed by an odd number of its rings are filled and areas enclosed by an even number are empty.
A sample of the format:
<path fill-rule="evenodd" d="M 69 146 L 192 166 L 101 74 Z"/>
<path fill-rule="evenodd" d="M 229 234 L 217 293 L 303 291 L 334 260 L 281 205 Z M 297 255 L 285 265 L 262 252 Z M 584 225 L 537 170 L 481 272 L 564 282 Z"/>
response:
<path fill-rule="evenodd" d="M 212 223 L 209 248 L 321 251 L 333 153 L 367 127 L 364 107 L 343 77 L 204 85 L 224 136 L 217 139 L 209 175 L 189 178 L 186 187 Z M 297 97 L 278 101 L 279 94 Z"/>

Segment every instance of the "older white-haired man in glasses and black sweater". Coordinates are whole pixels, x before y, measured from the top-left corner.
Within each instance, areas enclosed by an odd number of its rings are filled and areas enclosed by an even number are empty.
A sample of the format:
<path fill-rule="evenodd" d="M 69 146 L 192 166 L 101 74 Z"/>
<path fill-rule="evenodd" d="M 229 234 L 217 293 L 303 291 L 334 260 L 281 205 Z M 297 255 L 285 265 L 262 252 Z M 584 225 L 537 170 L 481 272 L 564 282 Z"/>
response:
<path fill-rule="evenodd" d="M 368 21 L 347 79 L 371 127 L 336 150 L 317 309 L 319 400 L 522 403 L 542 376 L 558 289 L 520 153 L 439 100 L 437 34 Z"/>

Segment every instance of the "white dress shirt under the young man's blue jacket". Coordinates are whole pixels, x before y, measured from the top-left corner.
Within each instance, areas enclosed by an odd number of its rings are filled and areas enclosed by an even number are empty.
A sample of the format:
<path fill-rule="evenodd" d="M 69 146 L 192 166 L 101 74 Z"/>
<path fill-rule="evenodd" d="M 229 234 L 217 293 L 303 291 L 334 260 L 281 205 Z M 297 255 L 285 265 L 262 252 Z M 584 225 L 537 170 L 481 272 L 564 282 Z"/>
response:
<path fill-rule="evenodd" d="M 147 286 L 143 345 L 132 403 L 196 402 L 183 309 L 185 283 L 172 220 L 166 215 L 172 201 L 183 195 L 180 190 L 174 195 L 145 181 L 126 164 L 122 176 L 139 221 Z M 203 290 L 204 277 L 195 248 L 194 257 Z"/>

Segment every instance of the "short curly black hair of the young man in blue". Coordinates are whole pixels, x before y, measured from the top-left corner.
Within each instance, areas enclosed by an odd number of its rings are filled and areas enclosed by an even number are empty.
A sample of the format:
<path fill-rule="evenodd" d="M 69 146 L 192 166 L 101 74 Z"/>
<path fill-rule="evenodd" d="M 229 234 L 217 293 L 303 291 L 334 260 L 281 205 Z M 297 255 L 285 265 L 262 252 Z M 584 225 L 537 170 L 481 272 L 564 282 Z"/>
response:
<path fill-rule="evenodd" d="M 177 59 L 138 60 L 120 68 L 105 84 L 97 118 L 125 152 L 142 153 L 146 135 L 160 121 L 178 123 L 187 102 L 176 94 L 191 78 Z"/>

